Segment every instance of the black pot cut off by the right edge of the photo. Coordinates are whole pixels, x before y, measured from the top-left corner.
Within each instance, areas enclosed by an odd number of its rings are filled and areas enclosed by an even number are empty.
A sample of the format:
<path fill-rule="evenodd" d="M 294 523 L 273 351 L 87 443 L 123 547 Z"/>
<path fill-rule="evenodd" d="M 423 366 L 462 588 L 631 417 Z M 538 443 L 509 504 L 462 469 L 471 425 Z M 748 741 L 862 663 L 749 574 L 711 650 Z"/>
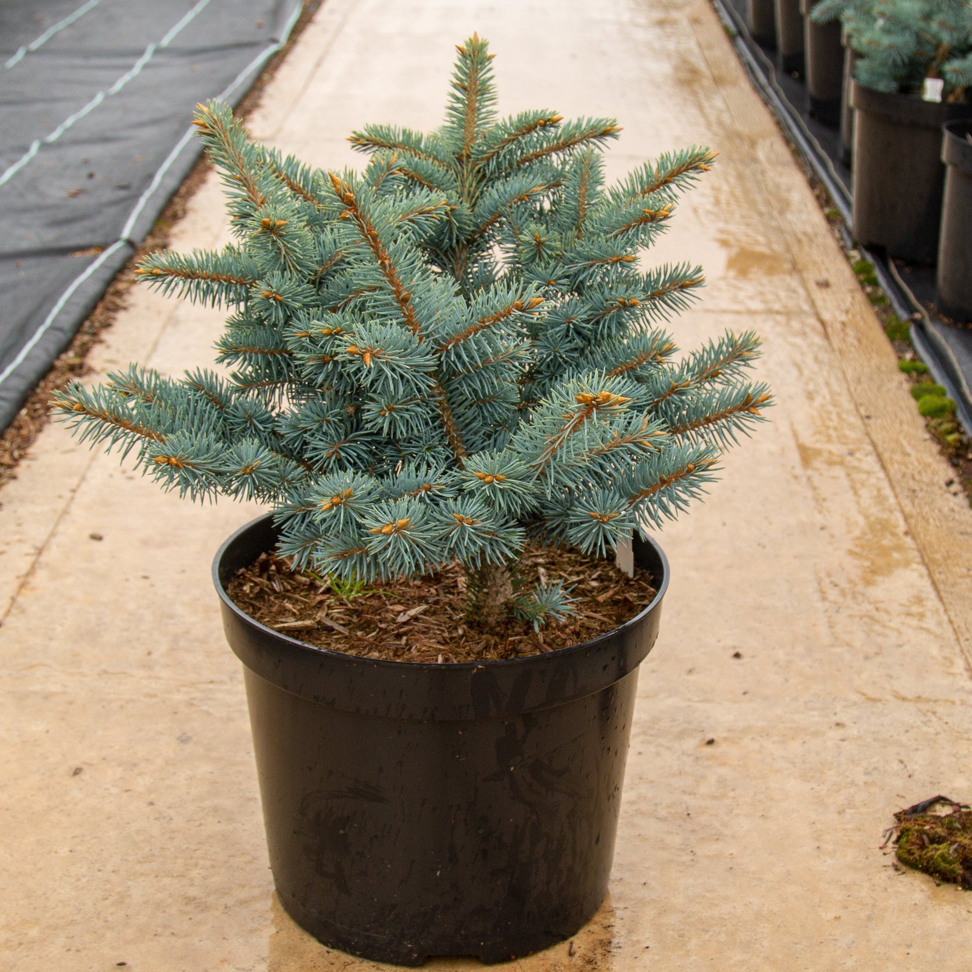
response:
<path fill-rule="evenodd" d="M 938 307 L 972 321 L 972 121 L 949 121 L 942 138 L 945 191 L 938 241 Z"/>

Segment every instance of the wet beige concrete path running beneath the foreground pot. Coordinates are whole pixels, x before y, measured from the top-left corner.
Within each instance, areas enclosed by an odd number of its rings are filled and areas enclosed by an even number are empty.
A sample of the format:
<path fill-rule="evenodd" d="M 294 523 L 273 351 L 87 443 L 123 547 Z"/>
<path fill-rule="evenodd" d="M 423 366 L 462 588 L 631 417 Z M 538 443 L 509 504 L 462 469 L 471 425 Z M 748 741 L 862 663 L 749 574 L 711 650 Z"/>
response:
<path fill-rule="evenodd" d="M 654 260 L 708 271 L 683 345 L 756 328 L 780 399 L 665 532 L 674 580 L 642 667 L 609 900 L 572 950 L 517 968 L 966 969 L 972 896 L 898 874 L 879 845 L 899 807 L 972 799 L 972 514 L 711 8 L 326 0 L 252 127 L 342 165 L 354 125 L 434 126 L 473 30 L 497 54 L 503 111 L 620 119 L 613 175 L 691 142 L 720 152 Z M 175 245 L 225 238 L 211 180 Z M 140 291 L 95 364 L 208 364 L 221 322 Z M 59 427 L 0 503 L 0 967 L 368 966 L 272 897 L 208 577 L 254 509 L 160 497 Z"/>

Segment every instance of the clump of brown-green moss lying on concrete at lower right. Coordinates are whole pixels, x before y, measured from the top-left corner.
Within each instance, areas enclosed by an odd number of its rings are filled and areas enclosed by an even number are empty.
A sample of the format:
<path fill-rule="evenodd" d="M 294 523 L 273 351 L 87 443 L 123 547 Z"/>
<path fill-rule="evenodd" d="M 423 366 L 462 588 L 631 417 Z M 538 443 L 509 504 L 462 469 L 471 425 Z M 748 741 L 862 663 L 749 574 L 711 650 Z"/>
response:
<path fill-rule="evenodd" d="M 942 814 L 942 808 L 950 808 Z M 972 809 L 932 797 L 894 815 L 897 859 L 908 867 L 972 890 Z"/>

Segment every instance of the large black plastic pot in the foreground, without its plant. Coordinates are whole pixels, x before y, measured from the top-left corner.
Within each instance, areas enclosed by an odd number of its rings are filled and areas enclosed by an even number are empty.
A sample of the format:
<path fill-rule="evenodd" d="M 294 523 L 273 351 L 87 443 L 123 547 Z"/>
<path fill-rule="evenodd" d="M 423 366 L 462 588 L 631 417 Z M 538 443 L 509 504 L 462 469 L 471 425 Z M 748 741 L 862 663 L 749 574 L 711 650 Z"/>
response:
<path fill-rule="evenodd" d="M 295 641 L 226 594 L 271 550 L 261 517 L 213 565 L 243 662 L 281 904 L 331 948 L 419 965 L 498 962 L 569 938 L 608 890 L 638 666 L 658 594 L 590 642 L 480 664 L 378 661 Z"/>

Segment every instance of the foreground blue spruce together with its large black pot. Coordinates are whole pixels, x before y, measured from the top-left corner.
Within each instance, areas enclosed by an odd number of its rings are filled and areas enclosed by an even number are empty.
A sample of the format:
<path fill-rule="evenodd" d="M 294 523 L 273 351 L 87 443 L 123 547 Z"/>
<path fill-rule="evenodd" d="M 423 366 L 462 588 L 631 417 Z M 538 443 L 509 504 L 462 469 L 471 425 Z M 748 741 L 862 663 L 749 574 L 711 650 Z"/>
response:
<path fill-rule="evenodd" d="M 459 48 L 434 132 L 355 133 L 362 174 L 281 157 L 225 105 L 200 108 L 237 242 L 159 253 L 139 273 L 232 308 L 219 361 L 233 370 L 131 367 L 55 401 L 166 488 L 272 507 L 214 573 L 277 890 L 322 942 L 408 964 L 534 952 L 600 906 L 668 581 L 643 532 L 703 491 L 770 403 L 741 377 L 751 333 L 678 360 L 658 326 L 701 271 L 638 266 L 712 153 L 662 156 L 606 188 L 615 122 L 498 121 L 491 57 L 475 36 Z M 333 641 L 311 645 L 227 592 L 274 549 L 266 577 L 279 589 L 286 574 L 295 601 L 316 588 L 350 603 L 364 585 L 380 599 L 408 577 L 431 596 L 458 571 L 456 642 L 517 625 L 552 639 L 580 602 L 563 578 L 525 575 L 530 551 L 573 549 L 620 583 L 605 558 L 633 532 L 649 603 L 597 637 L 500 660 L 395 660 L 388 625 L 356 636 L 327 617 Z M 322 582 L 302 596 L 308 576 Z"/>

